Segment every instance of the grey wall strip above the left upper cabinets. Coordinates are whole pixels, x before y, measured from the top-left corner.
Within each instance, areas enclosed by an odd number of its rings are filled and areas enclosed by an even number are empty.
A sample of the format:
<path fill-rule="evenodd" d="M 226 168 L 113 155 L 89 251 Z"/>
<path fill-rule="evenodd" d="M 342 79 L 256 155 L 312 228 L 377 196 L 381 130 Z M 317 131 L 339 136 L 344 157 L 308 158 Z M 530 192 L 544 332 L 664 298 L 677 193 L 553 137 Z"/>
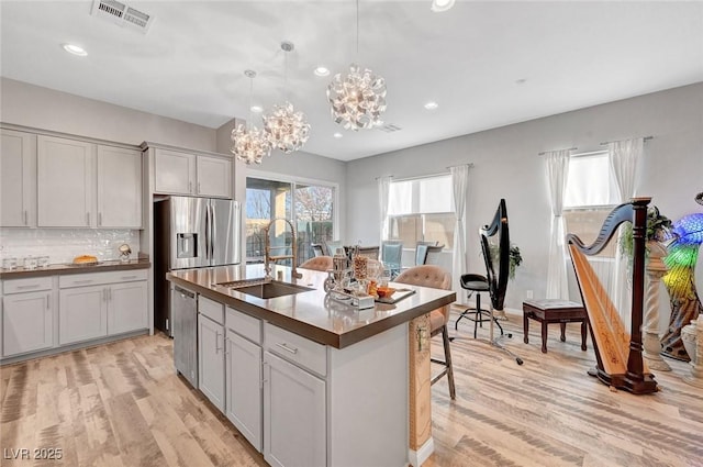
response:
<path fill-rule="evenodd" d="M 53 89 L 0 78 L 0 120 L 140 145 L 144 141 L 215 151 L 215 130 Z"/>

